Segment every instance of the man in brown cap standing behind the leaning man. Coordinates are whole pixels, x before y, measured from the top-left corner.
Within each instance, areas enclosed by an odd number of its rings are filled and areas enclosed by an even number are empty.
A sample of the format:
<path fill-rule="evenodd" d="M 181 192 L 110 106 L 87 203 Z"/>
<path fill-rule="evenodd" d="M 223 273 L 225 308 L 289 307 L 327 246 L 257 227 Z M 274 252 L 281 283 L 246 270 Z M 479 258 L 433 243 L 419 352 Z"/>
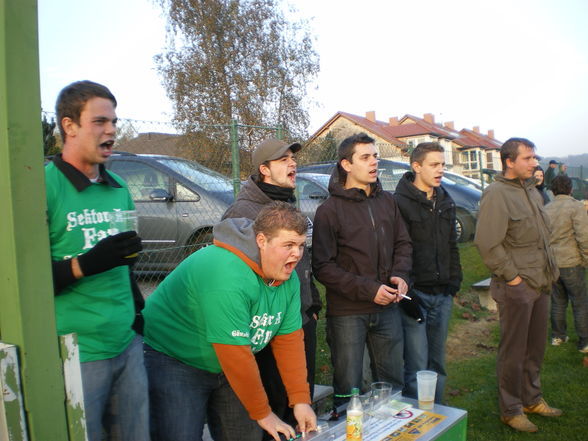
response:
<path fill-rule="evenodd" d="M 299 143 L 287 144 L 282 140 L 272 138 L 260 143 L 252 155 L 255 172 L 245 182 L 237 195 L 237 200 L 227 209 L 223 219 L 244 217 L 254 220 L 261 209 L 272 201 L 295 203 L 296 160 L 294 154 L 301 148 Z M 308 218 L 307 223 L 309 224 L 308 234 L 312 234 L 312 223 Z M 307 240 L 307 244 L 309 242 L 310 240 Z M 316 358 L 316 321 L 321 309 L 321 300 L 312 281 L 308 246 L 296 266 L 296 273 L 300 279 L 302 330 L 304 332 L 308 384 L 312 397 Z M 288 405 L 286 389 L 271 348 L 268 346 L 258 352 L 255 358 L 271 408 L 280 418 L 295 424 L 292 409 Z"/>

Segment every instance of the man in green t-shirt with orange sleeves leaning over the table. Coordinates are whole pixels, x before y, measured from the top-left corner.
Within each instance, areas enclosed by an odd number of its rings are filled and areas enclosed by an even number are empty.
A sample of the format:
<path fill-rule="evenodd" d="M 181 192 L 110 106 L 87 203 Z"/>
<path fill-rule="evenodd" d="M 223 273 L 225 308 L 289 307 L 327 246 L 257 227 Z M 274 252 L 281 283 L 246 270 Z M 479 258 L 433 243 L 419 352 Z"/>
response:
<path fill-rule="evenodd" d="M 153 441 L 294 437 L 268 405 L 254 354 L 274 352 L 299 430 L 315 429 L 306 380 L 300 282 L 306 218 L 285 202 L 226 219 L 214 245 L 184 260 L 147 299 L 145 364 Z"/>

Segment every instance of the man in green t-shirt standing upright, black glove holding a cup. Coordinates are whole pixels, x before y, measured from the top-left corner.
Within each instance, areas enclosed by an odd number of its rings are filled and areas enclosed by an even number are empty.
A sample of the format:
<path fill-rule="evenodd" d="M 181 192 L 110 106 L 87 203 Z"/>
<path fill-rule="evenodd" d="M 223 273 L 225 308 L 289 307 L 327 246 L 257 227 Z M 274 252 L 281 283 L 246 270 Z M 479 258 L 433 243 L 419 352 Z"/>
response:
<path fill-rule="evenodd" d="M 141 250 L 135 231 L 111 227 L 133 210 L 126 184 L 106 171 L 116 133 L 116 99 L 79 81 L 57 99 L 63 153 L 45 168 L 55 314 L 59 335 L 78 336 L 90 441 L 149 440 L 147 376 L 129 266 Z M 135 254 L 135 257 L 132 255 Z"/>

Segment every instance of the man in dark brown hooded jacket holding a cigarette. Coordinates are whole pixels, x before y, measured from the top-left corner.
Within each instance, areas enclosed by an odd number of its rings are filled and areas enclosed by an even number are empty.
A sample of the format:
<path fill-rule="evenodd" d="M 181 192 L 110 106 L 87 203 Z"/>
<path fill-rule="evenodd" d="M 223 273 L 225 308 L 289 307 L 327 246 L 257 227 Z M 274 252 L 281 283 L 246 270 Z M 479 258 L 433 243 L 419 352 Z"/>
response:
<path fill-rule="evenodd" d="M 327 288 L 327 342 L 335 406 L 362 383 L 367 343 L 375 381 L 403 386 L 402 323 L 397 302 L 408 291 L 410 237 L 392 195 L 378 180 L 374 140 L 341 142 L 330 197 L 314 218 L 312 267 Z"/>

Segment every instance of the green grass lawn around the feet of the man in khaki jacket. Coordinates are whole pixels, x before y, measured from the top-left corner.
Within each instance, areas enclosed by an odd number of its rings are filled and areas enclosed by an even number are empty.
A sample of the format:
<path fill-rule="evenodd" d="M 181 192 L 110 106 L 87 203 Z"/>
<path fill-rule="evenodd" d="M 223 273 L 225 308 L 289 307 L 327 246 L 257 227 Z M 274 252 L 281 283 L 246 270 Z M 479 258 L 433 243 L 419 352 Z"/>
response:
<path fill-rule="evenodd" d="M 496 314 L 479 307 L 477 293 L 471 289 L 473 283 L 489 277 L 489 273 L 473 244 L 462 244 L 460 256 L 464 280 L 453 309 L 450 334 L 456 337 L 469 335 L 464 330 L 470 325 L 482 324 L 486 328 L 483 337 L 478 338 L 481 341 L 453 339 L 459 345 L 472 347 L 474 354 L 448 360 L 446 401 L 449 406 L 468 411 L 468 440 L 588 440 L 583 426 L 588 417 L 588 367 L 583 366 L 583 356 L 576 349 L 571 309 L 568 314 L 570 342 L 560 347 L 548 345 L 541 376 L 545 398 L 553 406 L 563 409 L 564 415 L 555 419 L 531 416 L 530 419 L 539 426 L 539 432 L 532 434 L 515 432 L 500 422 L 495 374 L 498 321 Z M 319 289 L 324 295 L 324 288 L 320 286 Z M 317 383 L 331 384 L 331 381 L 323 312 L 318 327 Z"/>

